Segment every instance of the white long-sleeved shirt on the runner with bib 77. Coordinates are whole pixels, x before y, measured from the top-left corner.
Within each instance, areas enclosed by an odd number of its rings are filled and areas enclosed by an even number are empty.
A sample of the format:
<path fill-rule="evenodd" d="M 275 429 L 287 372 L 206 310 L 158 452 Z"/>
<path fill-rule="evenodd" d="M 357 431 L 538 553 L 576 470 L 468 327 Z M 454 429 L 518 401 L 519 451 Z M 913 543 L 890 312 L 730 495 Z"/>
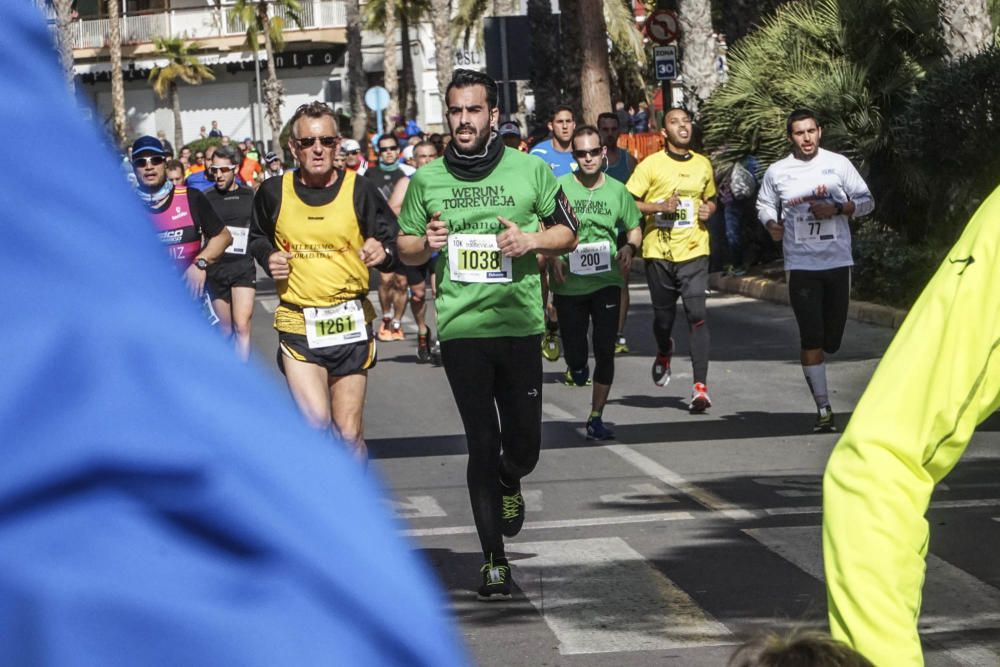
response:
<path fill-rule="evenodd" d="M 816 194 L 821 185 L 826 186 L 824 197 Z M 819 271 L 854 264 L 847 215 L 817 220 L 809 213 L 809 205 L 817 201 L 852 201 L 854 217 L 875 208 L 861 174 L 839 153 L 820 148 L 811 160 L 789 155 L 768 167 L 757 193 L 757 217 L 765 225 L 769 220 L 784 223 L 786 270 Z"/>

